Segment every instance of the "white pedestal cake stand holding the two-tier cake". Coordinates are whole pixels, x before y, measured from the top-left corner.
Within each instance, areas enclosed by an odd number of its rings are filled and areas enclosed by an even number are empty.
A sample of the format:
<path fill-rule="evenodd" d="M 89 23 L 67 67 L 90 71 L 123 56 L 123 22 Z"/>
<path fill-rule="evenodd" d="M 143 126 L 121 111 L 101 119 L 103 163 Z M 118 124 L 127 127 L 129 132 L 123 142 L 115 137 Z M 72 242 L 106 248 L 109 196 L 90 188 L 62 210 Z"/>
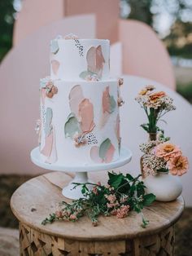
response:
<path fill-rule="evenodd" d="M 120 150 L 120 157 L 117 161 L 113 161 L 111 163 L 102 163 L 102 164 L 87 164 L 77 166 L 74 163 L 69 165 L 57 165 L 57 164 L 48 164 L 41 161 L 39 148 L 34 148 L 31 152 L 31 160 L 37 166 L 47 170 L 60 170 L 65 172 L 75 172 L 75 178 L 72 179 L 68 186 L 63 188 L 62 194 L 63 196 L 70 198 L 70 199 L 79 199 L 82 196 L 81 193 L 81 186 L 74 188 L 74 183 L 91 183 L 88 179 L 88 172 L 90 171 L 98 171 L 98 170 L 111 170 L 113 168 L 117 168 L 120 166 L 124 166 L 125 164 L 129 163 L 132 158 L 132 152 L 128 148 L 121 148 Z M 89 186 L 90 187 L 90 186 Z"/>

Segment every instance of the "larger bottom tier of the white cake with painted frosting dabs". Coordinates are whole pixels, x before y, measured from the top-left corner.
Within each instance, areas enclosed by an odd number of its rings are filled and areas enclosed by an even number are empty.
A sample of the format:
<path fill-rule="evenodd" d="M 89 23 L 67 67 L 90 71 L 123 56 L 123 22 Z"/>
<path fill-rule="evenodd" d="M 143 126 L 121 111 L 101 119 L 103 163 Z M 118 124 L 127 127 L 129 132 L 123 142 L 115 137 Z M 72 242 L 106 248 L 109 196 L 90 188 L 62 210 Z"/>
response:
<path fill-rule="evenodd" d="M 116 80 L 41 80 L 40 153 L 46 163 L 116 161 L 120 152 Z"/>

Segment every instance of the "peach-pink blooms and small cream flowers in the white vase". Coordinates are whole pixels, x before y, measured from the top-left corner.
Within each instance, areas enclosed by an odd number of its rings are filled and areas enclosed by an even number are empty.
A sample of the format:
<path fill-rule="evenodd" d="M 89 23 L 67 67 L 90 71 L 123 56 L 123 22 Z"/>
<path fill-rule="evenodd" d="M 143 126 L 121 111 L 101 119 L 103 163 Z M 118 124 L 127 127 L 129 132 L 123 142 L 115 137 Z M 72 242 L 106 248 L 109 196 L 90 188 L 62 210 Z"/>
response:
<path fill-rule="evenodd" d="M 181 148 L 164 138 L 164 133 L 159 132 L 156 140 L 151 140 L 140 145 L 144 153 L 142 157 L 142 174 L 155 175 L 158 172 L 170 172 L 172 175 L 185 174 L 189 168 L 187 157 L 183 156 Z"/>

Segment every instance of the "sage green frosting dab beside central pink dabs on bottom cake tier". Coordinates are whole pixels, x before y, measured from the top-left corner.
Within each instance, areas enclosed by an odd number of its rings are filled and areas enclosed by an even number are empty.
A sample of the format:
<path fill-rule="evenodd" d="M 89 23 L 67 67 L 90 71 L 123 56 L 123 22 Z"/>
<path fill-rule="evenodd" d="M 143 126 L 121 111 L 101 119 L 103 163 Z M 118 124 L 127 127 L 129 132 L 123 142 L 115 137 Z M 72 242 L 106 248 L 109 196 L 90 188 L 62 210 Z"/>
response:
<path fill-rule="evenodd" d="M 64 133 L 65 133 L 65 138 L 70 137 L 71 139 L 76 133 L 78 134 L 81 133 L 79 122 L 77 121 L 74 113 L 69 114 L 68 120 L 64 125 Z"/>

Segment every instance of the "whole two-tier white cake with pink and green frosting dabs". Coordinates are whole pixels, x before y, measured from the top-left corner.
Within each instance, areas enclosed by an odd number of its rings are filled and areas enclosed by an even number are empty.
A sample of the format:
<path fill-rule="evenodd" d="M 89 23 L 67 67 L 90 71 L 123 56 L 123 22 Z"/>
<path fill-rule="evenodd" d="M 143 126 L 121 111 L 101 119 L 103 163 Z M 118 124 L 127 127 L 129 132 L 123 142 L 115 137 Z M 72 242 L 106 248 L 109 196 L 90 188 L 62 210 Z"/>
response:
<path fill-rule="evenodd" d="M 50 77 L 41 79 L 41 160 L 89 165 L 120 155 L 120 85 L 109 77 L 110 42 L 58 37 L 50 42 Z"/>

